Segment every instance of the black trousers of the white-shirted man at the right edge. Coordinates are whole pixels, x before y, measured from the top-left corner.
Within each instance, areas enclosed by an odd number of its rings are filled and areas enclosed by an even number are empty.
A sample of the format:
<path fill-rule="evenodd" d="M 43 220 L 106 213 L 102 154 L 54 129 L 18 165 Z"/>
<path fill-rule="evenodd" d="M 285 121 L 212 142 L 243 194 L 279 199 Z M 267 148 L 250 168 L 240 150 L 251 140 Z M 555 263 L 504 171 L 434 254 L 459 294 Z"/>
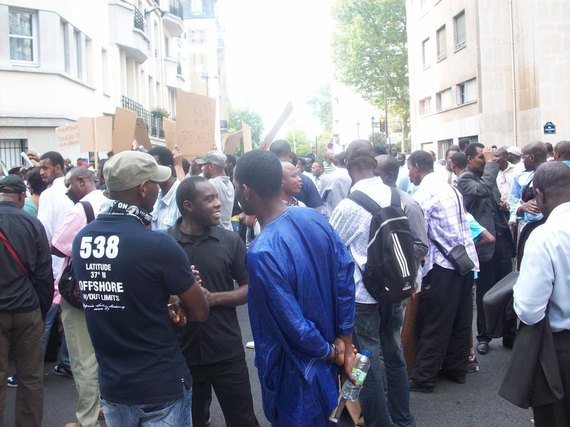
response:
<path fill-rule="evenodd" d="M 550 405 L 535 406 L 536 427 L 570 427 L 570 331 L 554 332 L 554 347 L 558 356 L 564 398 Z"/>

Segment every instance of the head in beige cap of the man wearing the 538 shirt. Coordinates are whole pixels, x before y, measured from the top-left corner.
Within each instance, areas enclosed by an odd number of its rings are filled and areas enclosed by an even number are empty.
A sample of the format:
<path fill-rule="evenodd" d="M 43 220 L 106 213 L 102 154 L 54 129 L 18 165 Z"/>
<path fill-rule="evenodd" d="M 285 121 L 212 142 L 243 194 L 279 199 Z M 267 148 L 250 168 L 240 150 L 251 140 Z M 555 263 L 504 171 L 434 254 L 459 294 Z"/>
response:
<path fill-rule="evenodd" d="M 158 197 L 158 184 L 172 175 L 150 154 L 123 151 L 105 163 L 103 176 L 110 199 L 130 203 L 151 212 Z"/>

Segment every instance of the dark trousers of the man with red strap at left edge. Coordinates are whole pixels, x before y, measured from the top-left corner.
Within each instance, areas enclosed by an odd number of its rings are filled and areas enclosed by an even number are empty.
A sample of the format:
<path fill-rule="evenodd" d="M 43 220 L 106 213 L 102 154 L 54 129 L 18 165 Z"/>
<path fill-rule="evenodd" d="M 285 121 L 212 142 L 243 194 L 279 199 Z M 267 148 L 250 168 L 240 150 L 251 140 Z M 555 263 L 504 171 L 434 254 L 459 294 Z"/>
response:
<path fill-rule="evenodd" d="M 16 427 L 40 427 L 44 406 L 44 322 L 40 309 L 28 313 L 0 313 L 0 426 L 4 425 L 4 401 L 8 358 L 15 357 Z"/>

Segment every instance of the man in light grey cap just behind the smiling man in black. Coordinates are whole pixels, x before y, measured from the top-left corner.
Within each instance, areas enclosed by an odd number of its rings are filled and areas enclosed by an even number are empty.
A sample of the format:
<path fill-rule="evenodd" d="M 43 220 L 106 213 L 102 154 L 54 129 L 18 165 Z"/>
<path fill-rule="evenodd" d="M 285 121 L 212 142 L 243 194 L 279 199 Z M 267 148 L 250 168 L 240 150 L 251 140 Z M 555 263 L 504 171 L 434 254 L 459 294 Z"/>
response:
<path fill-rule="evenodd" d="M 196 163 L 202 166 L 202 173 L 210 180 L 218 191 L 218 199 L 222 202 L 220 227 L 232 231 L 232 210 L 234 207 L 234 185 L 226 175 L 227 157 L 221 151 L 209 151 Z"/>

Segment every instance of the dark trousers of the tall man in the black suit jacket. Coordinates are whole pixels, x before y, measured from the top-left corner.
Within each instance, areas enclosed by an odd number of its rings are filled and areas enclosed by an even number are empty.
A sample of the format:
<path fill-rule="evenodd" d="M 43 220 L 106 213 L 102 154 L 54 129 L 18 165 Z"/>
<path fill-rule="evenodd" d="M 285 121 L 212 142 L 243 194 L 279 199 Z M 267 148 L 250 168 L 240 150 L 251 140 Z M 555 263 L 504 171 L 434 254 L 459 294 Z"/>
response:
<path fill-rule="evenodd" d="M 475 297 L 477 300 L 477 341 L 489 342 L 491 338 L 487 335 L 487 320 L 485 319 L 485 311 L 483 310 L 483 296 L 495 286 L 499 280 L 505 277 L 513 270 L 512 242 L 510 236 L 498 235 L 495 243 L 495 253 L 493 258 L 487 262 L 479 263 L 479 275 L 477 277 L 477 286 Z M 505 324 L 503 330 L 503 339 L 511 340 L 511 344 L 517 333 L 517 322 L 514 319 Z M 512 345 L 511 345 L 512 346 Z"/>

